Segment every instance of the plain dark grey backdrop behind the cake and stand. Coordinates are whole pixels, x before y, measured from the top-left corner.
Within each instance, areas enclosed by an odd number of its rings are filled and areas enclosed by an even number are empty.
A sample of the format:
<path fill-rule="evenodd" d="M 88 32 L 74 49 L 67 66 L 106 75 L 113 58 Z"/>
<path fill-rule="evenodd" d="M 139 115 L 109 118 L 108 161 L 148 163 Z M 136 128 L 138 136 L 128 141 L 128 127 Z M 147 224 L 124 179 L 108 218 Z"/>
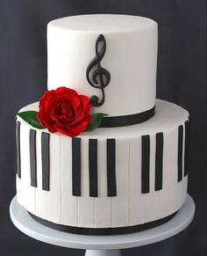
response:
<path fill-rule="evenodd" d="M 20 233 L 9 218 L 15 194 L 15 113 L 46 91 L 46 24 L 83 13 L 124 13 L 159 24 L 157 96 L 189 110 L 192 119 L 189 193 L 196 218 L 187 230 L 123 255 L 207 254 L 207 1 L 0 0 L 0 252 L 1 255 L 83 255 Z M 138 60 L 139 61 L 139 60 Z"/>

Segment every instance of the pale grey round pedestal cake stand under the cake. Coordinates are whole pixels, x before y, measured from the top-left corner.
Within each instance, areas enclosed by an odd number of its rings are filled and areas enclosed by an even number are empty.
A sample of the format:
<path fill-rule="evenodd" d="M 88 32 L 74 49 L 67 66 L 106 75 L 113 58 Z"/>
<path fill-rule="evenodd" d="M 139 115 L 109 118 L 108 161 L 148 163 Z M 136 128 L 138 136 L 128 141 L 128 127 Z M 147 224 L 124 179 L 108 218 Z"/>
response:
<path fill-rule="evenodd" d="M 168 223 L 127 235 L 86 236 L 53 230 L 37 223 L 18 204 L 16 196 L 10 206 L 12 223 L 27 236 L 51 245 L 85 249 L 86 256 L 120 256 L 120 249 L 149 245 L 170 238 L 188 227 L 194 214 L 195 203 L 188 195 L 182 208 Z"/>

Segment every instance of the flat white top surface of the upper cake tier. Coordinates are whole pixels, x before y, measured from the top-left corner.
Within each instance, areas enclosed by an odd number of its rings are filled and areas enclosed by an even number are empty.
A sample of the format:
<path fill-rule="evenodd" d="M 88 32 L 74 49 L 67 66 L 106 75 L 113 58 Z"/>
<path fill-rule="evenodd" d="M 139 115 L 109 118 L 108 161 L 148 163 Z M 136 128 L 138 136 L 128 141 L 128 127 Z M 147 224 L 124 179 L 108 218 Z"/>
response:
<path fill-rule="evenodd" d="M 151 18 L 119 14 L 87 14 L 58 18 L 48 26 L 66 29 L 73 32 L 118 33 L 141 30 L 156 26 Z"/>

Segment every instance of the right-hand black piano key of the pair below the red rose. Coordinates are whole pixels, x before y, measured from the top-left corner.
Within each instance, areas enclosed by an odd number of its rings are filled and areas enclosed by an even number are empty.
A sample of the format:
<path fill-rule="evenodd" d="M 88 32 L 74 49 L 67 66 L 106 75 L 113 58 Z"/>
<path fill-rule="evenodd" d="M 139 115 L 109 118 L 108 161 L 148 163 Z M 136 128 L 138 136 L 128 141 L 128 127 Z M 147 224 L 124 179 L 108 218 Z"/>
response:
<path fill-rule="evenodd" d="M 49 142 L 50 135 L 42 133 L 41 135 L 41 155 L 42 155 L 42 189 L 49 191 L 50 189 L 50 152 Z"/>

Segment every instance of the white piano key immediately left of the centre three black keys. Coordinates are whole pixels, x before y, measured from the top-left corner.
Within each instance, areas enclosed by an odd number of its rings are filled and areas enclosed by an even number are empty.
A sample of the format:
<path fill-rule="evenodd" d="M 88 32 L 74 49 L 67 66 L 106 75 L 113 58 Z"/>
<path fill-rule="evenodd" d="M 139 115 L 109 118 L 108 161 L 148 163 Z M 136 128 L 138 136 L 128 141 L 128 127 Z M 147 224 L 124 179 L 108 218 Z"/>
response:
<path fill-rule="evenodd" d="M 77 197 L 72 195 L 72 139 L 61 136 L 61 223 L 77 226 Z"/>

